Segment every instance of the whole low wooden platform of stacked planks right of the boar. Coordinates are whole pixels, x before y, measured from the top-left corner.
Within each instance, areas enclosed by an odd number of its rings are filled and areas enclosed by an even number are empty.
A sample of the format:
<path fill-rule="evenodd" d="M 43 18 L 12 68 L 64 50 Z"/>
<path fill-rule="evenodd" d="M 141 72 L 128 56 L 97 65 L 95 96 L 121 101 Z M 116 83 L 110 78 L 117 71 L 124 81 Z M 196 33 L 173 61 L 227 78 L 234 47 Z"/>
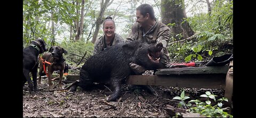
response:
<path fill-rule="evenodd" d="M 161 69 L 156 75 L 130 75 L 130 85 L 225 89 L 228 66 Z"/>

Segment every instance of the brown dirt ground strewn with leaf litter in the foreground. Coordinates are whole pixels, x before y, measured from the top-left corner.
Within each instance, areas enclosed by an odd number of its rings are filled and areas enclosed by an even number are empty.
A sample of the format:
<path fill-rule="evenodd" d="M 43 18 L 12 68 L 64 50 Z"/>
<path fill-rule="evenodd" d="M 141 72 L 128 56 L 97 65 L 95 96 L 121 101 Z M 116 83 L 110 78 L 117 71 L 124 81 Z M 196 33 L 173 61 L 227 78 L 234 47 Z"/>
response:
<path fill-rule="evenodd" d="M 47 79 L 41 82 L 35 95 L 29 94 L 27 83 L 23 87 L 23 117 L 170 117 L 165 106 L 177 107 L 178 102 L 171 99 L 182 92 L 177 87 L 154 86 L 158 94 L 155 96 L 140 87 L 122 85 L 120 98 L 107 103 L 105 99 L 111 91 L 105 86 L 91 91 L 78 87 L 76 92 L 66 94 L 66 91 L 49 92 Z M 54 86 L 58 86 L 58 81 L 54 81 Z M 204 94 L 202 89 L 185 88 L 185 91 L 190 92 L 190 97 Z M 220 90 L 216 92 L 215 95 L 223 94 Z"/>

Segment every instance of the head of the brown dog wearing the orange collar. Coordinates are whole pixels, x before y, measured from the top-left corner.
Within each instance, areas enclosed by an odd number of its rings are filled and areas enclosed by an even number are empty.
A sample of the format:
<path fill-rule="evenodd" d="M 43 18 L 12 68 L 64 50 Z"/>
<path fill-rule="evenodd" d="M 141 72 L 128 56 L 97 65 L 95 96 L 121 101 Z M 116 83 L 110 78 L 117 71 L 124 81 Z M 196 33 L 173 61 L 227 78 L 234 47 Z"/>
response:
<path fill-rule="evenodd" d="M 49 49 L 49 52 L 52 54 L 52 57 L 55 59 L 59 59 L 62 57 L 62 54 L 67 54 L 67 50 L 65 50 L 64 48 L 60 47 L 60 46 L 52 46 Z"/>

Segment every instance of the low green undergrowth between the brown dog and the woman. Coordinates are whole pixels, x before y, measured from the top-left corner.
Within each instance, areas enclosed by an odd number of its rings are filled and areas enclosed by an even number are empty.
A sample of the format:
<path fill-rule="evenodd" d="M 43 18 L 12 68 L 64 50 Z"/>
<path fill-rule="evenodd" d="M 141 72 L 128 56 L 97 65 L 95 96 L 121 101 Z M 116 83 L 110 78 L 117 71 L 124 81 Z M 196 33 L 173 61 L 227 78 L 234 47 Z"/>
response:
<path fill-rule="evenodd" d="M 88 43 L 84 43 L 81 40 L 78 40 L 76 42 L 69 42 L 67 40 L 63 40 L 60 44 L 60 46 L 62 46 L 63 48 L 65 48 L 68 51 L 68 55 L 64 55 L 66 58 L 66 61 L 70 64 L 70 65 L 76 65 L 77 63 L 79 63 L 79 61 L 81 60 L 82 57 L 79 56 L 83 56 L 86 52 L 86 56 L 85 58 L 89 58 L 93 53 L 93 48 L 94 48 L 94 44 L 91 43 L 91 41 L 88 41 Z M 73 54 L 69 54 L 69 53 L 73 53 Z M 81 65 L 84 64 L 86 60 L 83 59 L 83 61 L 80 63 Z"/>

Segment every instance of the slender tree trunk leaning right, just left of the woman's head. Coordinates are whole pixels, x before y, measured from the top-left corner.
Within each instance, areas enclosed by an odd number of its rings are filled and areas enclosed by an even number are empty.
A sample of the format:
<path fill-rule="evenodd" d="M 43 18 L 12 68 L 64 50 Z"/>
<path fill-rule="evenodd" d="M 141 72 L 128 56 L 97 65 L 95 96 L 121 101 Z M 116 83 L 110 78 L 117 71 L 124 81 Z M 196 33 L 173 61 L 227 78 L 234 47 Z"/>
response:
<path fill-rule="evenodd" d="M 100 30 L 100 24 L 102 24 L 103 20 L 102 20 L 102 17 L 103 17 L 103 14 L 107 8 L 107 5 L 109 3 L 110 0 L 106 0 L 105 3 L 103 0 L 101 0 L 101 5 L 100 5 L 100 12 L 98 14 L 98 18 L 96 20 L 96 28 L 95 28 L 95 31 L 93 33 L 93 36 L 92 36 L 92 43 L 94 44 L 96 39 L 97 39 L 97 35 L 99 33 L 99 30 Z"/>

